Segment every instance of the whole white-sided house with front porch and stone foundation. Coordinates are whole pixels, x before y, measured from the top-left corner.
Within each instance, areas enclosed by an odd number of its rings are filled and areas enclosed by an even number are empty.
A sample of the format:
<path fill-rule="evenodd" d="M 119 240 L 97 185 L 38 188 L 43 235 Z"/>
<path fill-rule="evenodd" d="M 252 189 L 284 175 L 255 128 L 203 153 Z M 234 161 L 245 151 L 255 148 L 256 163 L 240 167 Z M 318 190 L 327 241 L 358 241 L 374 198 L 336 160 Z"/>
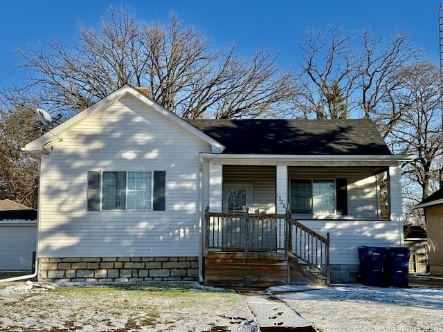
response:
<path fill-rule="evenodd" d="M 404 245 L 410 156 L 370 120 L 186 121 L 123 86 L 24 151 L 39 162 L 39 280 L 210 283 L 246 261 L 239 283 L 287 281 L 263 267 L 296 250 L 287 208 L 330 234 L 332 282 L 356 282 L 359 246 Z"/>

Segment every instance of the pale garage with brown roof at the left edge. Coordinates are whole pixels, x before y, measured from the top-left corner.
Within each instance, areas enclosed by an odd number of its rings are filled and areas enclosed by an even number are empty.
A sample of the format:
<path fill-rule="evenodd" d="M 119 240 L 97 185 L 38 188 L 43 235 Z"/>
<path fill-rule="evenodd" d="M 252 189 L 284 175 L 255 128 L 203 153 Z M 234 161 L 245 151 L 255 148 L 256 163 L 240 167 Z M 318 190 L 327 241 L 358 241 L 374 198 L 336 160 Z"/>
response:
<path fill-rule="evenodd" d="M 31 270 L 37 248 L 37 210 L 0 201 L 0 270 Z"/>

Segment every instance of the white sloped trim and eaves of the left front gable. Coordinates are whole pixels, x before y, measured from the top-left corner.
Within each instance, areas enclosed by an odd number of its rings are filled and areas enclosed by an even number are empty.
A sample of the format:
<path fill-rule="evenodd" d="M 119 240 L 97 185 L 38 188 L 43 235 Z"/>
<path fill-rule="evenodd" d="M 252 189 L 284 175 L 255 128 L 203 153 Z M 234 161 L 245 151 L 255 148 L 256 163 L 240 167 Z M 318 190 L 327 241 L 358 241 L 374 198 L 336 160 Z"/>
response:
<path fill-rule="evenodd" d="M 141 102 L 146 104 L 147 107 L 150 107 L 154 111 L 158 112 L 159 114 L 161 114 L 162 116 L 173 122 L 174 124 L 177 124 L 179 127 L 182 127 L 183 129 L 185 129 L 192 135 L 196 136 L 200 140 L 207 142 L 208 145 L 211 146 L 213 152 L 223 151 L 224 146 L 221 145 L 219 142 L 217 142 L 217 140 L 214 140 L 213 138 L 207 136 L 205 133 L 199 131 L 195 127 L 192 127 L 190 124 L 188 124 L 188 122 L 186 122 L 179 116 L 176 116 L 171 111 L 168 111 L 160 104 L 157 104 L 156 102 L 154 102 L 154 100 L 147 97 L 147 95 L 145 95 L 138 89 L 134 88 L 133 86 L 130 86 L 129 84 L 122 86 L 120 89 L 114 91 L 110 95 L 107 95 L 107 97 L 96 102 L 96 104 L 93 104 L 91 107 L 78 113 L 76 116 L 73 116 L 69 120 L 66 120 L 65 122 L 51 129 L 47 133 L 44 133 L 44 135 L 40 136 L 36 140 L 33 140 L 32 142 L 28 143 L 23 148 L 23 151 L 28 152 L 28 154 L 31 154 L 38 159 L 39 155 L 42 152 L 42 148 L 45 145 L 52 144 L 53 142 L 62 141 L 63 140 L 62 135 L 64 132 L 68 131 L 72 127 L 75 127 L 75 125 L 86 120 L 87 118 L 89 118 L 89 116 L 92 116 L 94 113 L 100 111 L 101 109 L 108 107 L 110 104 L 113 104 L 114 102 L 118 102 L 118 100 L 124 98 L 127 95 L 132 95 L 132 97 L 140 100 Z"/>

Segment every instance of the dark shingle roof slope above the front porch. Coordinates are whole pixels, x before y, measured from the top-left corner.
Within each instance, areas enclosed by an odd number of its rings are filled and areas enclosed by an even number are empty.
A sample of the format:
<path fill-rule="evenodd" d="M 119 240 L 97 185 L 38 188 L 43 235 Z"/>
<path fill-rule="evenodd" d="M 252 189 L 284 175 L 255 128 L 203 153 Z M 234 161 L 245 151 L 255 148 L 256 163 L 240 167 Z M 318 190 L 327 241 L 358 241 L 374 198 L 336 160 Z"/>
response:
<path fill-rule="evenodd" d="M 188 120 L 224 154 L 390 155 L 370 120 Z"/>

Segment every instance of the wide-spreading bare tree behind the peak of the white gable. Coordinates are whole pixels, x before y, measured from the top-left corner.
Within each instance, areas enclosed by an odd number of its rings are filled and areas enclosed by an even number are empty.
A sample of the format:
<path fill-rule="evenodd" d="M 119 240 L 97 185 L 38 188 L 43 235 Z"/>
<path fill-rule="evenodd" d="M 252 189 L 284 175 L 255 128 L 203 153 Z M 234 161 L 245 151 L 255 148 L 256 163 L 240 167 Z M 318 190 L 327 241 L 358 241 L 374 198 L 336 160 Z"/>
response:
<path fill-rule="evenodd" d="M 272 50 L 251 59 L 236 46 L 210 40 L 171 15 L 148 26 L 126 10 L 109 9 L 101 29 L 80 26 L 68 47 L 53 39 L 16 50 L 40 100 L 59 111 L 82 111 L 120 86 L 147 86 L 150 97 L 183 118 L 257 118 L 287 110 L 293 75 L 282 73 Z"/>

